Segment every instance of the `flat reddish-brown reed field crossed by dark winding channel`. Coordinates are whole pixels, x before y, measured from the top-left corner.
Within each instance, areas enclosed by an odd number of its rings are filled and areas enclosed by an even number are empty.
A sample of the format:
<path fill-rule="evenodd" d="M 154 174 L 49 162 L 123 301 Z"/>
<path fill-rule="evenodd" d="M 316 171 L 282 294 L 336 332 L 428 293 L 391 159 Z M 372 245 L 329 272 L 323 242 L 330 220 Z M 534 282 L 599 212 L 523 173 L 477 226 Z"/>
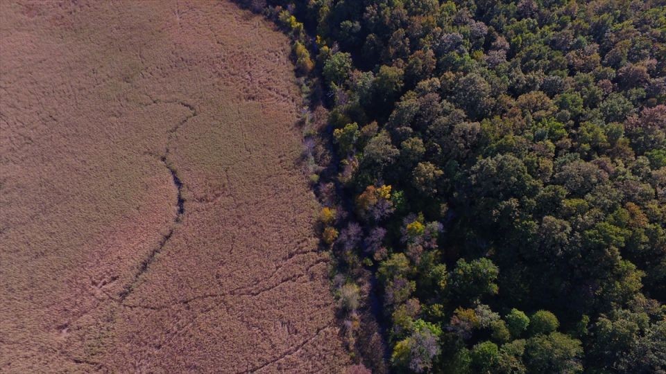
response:
<path fill-rule="evenodd" d="M 343 371 L 284 35 L 0 1 L 0 372 Z"/>

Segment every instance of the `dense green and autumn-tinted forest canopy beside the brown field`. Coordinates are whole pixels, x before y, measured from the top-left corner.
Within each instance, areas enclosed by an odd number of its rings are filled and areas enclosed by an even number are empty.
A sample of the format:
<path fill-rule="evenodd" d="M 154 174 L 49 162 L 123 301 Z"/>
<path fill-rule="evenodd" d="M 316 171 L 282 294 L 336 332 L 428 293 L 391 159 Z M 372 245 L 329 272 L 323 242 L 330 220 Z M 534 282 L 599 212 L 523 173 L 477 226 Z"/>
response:
<path fill-rule="evenodd" d="M 392 371 L 666 371 L 662 1 L 273 3 L 329 93 L 353 208 L 324 240 L 377 278 Z"/>

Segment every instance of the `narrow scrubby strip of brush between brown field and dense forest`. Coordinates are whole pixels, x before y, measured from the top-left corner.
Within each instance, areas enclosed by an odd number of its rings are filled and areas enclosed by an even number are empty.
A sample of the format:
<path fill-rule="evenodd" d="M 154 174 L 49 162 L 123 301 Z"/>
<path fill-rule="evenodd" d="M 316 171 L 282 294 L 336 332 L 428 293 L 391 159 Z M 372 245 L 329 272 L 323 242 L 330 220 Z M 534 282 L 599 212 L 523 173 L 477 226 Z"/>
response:
<path fill-rule="evenodd" d="M 302 98 L 298 113 L 303 141 L 300 161 L 321 205 L 315 229 L 320 237 L 319 250 L 330 253 L 332 260 L 329 275 L 336 300 L 336 319 L 343 344 L 355 362 L 348 373 L 370 373 L 368 368 L 372 373 L 385 373 L 390 351 L 386 345 L 386 321 L 377 294 L 377 279 L 369 269 L 344 265 L 344 261 L 339 260 L 342 253 L 336 253 L 333 246 L 340 235 L 339 228 L 353 215 L 354 205 L 343 192 L 338 178 L 340 160 L 334 152 L 334 129 L 328 118 L 334 93 L 325 91 L 320 78 L 321 67 L 318 66 L 323 62 L 311 58 L 321 48 L 329 47 L 318 37 L 309 35 L 290 9 L 268 6 L 265 0 L 232 1 L 271 21 L 291 41 L 290 58 L 296 68 L 296 83 Z M 349 257 L 352 253 L 345 255 Z M 356 258 L 360 263 L 361 259 Z"/>

